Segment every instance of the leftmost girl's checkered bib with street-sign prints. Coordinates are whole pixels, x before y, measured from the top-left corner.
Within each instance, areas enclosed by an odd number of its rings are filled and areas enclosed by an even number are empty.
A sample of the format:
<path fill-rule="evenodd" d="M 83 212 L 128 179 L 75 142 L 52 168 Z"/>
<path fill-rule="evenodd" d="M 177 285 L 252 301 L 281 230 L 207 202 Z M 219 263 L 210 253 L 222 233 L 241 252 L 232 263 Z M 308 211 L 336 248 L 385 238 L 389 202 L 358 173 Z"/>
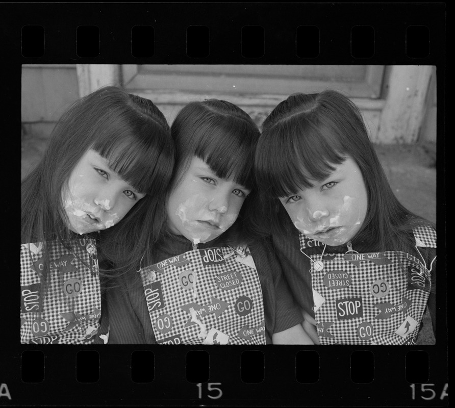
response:
<path fill-rule="evenodd" d="M 47 244 L 50 276 L 38 310 L 40 277 L 36 269 L 43 244 L 20 246 L 20 341 L 34 344 L 89 344 L 99 327 L 100 286 L 95 240 L 70 241 L 73 251 L 60 242 Z M 89 253 L 90 252 L 90 253 Z M 91 254 L 91 256 L 90 256 Z"/>

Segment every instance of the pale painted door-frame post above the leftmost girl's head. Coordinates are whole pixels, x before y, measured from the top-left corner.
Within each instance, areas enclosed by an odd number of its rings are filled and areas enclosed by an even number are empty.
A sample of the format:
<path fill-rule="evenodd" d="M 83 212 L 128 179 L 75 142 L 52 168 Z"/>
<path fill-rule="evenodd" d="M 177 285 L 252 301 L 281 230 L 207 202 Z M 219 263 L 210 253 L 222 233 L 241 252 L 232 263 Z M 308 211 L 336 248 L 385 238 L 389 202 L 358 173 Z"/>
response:
<path fill-rule="evenodd" d="M 106 85 L 120 85 L 120 69 L 112 64 L 77 64 L 79 96 L 86 96 Z"/>

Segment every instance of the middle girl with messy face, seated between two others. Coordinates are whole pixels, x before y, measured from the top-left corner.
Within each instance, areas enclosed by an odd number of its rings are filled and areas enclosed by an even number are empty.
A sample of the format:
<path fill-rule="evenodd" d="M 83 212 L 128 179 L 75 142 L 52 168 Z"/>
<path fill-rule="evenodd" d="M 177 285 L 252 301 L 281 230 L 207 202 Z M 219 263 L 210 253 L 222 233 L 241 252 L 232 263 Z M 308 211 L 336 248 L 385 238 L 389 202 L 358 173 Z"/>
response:
<path fill-rule="evenodd" d="M 266 242 L 246 238 L 257 126 L 209 99 L 184 107 L 171 135 L 162 239 L 108 287 L 109 343 L 312 344 Z"/>

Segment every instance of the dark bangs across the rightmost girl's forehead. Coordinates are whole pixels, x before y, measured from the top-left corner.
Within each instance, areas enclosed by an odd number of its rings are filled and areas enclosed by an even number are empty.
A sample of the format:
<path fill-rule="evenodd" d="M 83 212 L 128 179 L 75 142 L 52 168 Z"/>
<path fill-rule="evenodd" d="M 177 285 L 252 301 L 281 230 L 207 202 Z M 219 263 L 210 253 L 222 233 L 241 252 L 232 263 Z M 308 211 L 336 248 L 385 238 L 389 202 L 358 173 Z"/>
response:
<path fill-rule="evenodd" d="M 256 151 L 256 178 L 262 190 L 285 197 L 326 179 L 345 160 L 332 129 L 293 117 L 263 132 Z"/>

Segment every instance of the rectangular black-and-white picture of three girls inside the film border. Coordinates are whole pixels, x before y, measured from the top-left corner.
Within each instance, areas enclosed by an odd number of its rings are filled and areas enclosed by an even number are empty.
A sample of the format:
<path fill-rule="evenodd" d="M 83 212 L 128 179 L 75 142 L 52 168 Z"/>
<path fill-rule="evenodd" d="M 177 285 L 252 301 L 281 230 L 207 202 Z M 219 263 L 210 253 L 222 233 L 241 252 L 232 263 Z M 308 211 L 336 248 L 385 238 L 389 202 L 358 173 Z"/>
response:
<path fill-rule="evenodd" d="M 434 66 L 23 66 L 21 342 L 434 344 L 436 110 Z"/>

